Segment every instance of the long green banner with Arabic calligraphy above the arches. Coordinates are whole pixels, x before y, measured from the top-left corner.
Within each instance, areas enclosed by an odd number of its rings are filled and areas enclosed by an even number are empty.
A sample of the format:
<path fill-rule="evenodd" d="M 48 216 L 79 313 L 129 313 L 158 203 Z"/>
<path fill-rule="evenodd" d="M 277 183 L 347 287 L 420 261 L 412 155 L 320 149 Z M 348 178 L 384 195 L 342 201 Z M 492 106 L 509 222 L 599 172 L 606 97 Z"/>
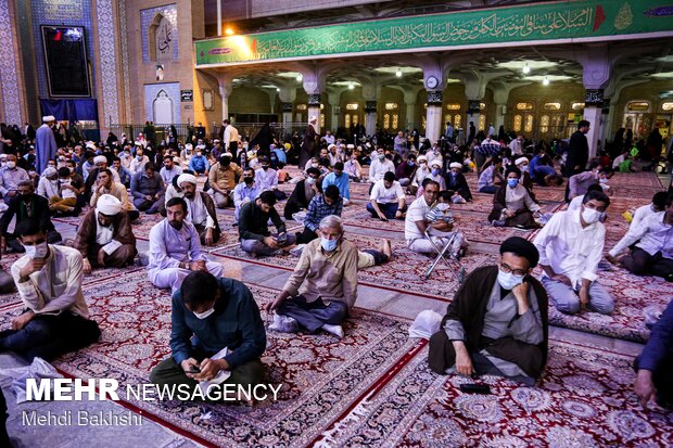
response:
<path fill-rule="evenodd" d="M 202 66 L 671 30 L 670 1 L 589 0 L 229 36 L 194 46 L 196 66 Z"/>

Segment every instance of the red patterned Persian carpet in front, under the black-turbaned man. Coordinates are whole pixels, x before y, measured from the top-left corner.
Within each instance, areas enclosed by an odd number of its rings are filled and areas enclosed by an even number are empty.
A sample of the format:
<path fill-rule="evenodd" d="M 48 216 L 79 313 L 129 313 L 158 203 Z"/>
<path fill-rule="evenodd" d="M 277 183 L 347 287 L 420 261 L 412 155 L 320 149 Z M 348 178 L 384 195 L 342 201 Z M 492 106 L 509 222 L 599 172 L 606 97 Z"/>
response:
<path fill-rule="evenodd" d="M 537 387 L 485 376 L 493 395 L 459 391 L 420 351 L 399 373 L 322 434 L 330 447 L 671 446 L 673 412 L 644 411 L 632 359 L 553 342 Z"/>

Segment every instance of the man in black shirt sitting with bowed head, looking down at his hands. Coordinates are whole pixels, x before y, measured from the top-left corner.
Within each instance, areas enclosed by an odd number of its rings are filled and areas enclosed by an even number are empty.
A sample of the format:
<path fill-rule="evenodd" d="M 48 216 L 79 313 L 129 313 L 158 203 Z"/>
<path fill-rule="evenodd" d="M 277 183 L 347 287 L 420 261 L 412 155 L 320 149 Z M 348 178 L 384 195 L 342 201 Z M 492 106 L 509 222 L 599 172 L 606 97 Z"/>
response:
<path fill-rule="evenodd" d="M 270 256 L 281 251 L 290 251 L 294 244 L 294 234 L 285 233 L 285 223 L 278 216 L 274 205 L 276 195 L 272 191 L 263 191 L 253 202 L 241 207 L 239 215 L 239 240 L 241 248 L 252 255 Z M 269 219 L 276 226 L 277 234 L 269 232 Z"/>

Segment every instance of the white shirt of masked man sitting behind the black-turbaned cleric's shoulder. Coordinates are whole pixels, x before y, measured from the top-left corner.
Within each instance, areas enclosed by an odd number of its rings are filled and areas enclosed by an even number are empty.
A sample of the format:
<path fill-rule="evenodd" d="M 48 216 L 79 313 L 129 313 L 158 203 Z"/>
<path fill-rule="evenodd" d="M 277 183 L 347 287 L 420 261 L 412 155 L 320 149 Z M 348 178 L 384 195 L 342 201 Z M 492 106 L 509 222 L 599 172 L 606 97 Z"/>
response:
<path fill-rule="evenodd" d="M 559 212 L 543 227 L 533 244 L 539 252 L 541 265 L 550 266 L 554 272 L 567 276 L 577 286 L 582 279 L 596 280 L 605 242 L 602 223 L 583 228 L 580 212 Z"/>

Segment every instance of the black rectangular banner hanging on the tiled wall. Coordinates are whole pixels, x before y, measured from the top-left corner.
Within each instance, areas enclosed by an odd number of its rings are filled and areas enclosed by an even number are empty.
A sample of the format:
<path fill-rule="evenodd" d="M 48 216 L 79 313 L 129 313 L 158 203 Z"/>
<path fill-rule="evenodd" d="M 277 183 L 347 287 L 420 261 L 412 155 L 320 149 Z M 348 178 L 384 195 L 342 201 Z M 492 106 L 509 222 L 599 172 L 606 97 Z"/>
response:
<path fill-rule="evenodd" d="M 42 25 L 50 97 L 91 97 L 82 26 Z"/>

